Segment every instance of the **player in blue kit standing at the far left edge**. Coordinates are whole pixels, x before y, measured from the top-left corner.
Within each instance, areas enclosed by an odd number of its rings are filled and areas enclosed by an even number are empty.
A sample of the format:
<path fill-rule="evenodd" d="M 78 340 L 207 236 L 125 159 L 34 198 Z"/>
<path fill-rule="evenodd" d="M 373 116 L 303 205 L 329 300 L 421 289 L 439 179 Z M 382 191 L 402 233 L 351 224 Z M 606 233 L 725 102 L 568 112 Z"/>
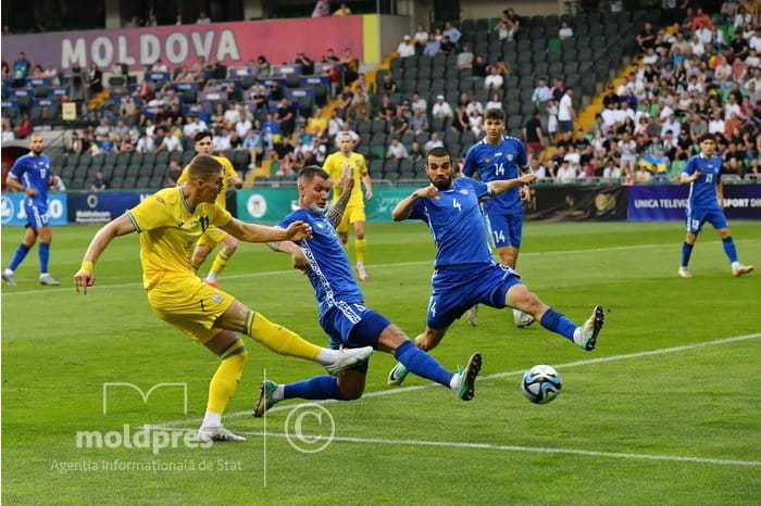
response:
<path fill-rule="evenodd" d="M 5 185 L 15 191 L 26 193 L 24 211 L 26 212 L 26 231 L 16 252 L 2 271 L 2 279 L 11 287 L 16 286 L 13 273 L 24 262 L 26 254 L 37 242 L 39 236 L 39 283 L 48 286 L 61 284 L 48 273 L 50 261 L 50 241 L 53 239 L 50 230 L 50 214 L 48 213 L 48 188 L 60 185 L 60 179 L 50 170 L 50 159 L 42 153 L 45 141 L 39 134 L 29 138 L 30 151 L 20 156 L 8 174 Z"/>

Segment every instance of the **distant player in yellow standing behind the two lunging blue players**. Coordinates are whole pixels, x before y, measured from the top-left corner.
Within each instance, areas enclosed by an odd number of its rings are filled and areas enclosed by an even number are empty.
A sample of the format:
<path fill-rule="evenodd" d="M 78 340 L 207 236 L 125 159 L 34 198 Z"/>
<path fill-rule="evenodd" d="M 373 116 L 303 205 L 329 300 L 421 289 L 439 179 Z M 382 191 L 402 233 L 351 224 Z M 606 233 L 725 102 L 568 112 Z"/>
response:
<path fill-rule="evenodd" d="M 360 181 L 364 182 L 364 198 L 371 200 L 373 198 L 373 184 L 370 180 L 367 165 L 364 162 L 364 156 L 351 151 L 353 141 L 348 131 L 339 131 L 336 137 L 336 142 L 340 149 L 333 153 L 323 164 L 323 169 L 330 177 L 329 181 L 333 185 L 333 203 L 338 201 L 338 198 L 344 193 L 341 182 L 341 174 L 345 166 L 350 166 L 354 176 L 354 187 L 351 190 L 349 204 L 344 212 L 341 223 L 336 227 L 338 237 L 344 244 L 344 249 L 348 252 L 349 225 L 354 227 L 354 250 L 357 251 L 357 277 L 360 281 L 367 280 L 367 271 L 364 268 L 364 252 L 367 249 L 367 243 L 364 239 L 364 200 L 362 199 L 362 187 Z"/>

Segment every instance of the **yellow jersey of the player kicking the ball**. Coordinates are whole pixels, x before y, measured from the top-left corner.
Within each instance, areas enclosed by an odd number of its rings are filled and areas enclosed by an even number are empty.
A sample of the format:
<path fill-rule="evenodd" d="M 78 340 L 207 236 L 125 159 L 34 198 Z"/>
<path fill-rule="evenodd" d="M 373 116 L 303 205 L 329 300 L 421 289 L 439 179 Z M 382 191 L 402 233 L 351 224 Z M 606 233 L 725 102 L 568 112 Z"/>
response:
<path fill-rule="evenodd" d="M 188 206 L 182 187 L 159 190 L 127 211 L 140 235 L 142 287 L 165 276 L 196 276 L 190 263 L 196 241 L 209 227 L 227 227 L 233 215 L 217 203 Z"/>

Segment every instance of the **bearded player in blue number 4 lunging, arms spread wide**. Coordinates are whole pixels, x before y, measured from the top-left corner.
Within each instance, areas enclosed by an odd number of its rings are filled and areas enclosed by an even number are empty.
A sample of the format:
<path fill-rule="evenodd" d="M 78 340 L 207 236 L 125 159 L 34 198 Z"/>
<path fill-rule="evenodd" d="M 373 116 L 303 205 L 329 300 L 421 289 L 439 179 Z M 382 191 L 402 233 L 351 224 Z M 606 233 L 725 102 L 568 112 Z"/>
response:
<path fill-rule="evenodd" d="M 425 172 L 431 186 L 399 202 L 391 213 L 395 222 L 424 222 L 436 243 L 427 327 L 415 338 L 415 345 L 432 350 L 456 319 L 474 304 L 483 303 L 498 309 L 508 306 L 521 309 L 582 350 L 595 350 L 604 320 L 602 307 L 595 306 L 589 319 L 576 326 L 528 291 L 513 269 L 495 262 L 486 243 L 478 203 L 519 185 L 534 182 L 536 176 L 525 174 L 490 182 L 466 177 L 452 179 L 451 156 L 444 148 L 428 152 Z M 407 375 L 407 367 L 397 364 L 388 375 L 388 384 L 401 384 Z"/>

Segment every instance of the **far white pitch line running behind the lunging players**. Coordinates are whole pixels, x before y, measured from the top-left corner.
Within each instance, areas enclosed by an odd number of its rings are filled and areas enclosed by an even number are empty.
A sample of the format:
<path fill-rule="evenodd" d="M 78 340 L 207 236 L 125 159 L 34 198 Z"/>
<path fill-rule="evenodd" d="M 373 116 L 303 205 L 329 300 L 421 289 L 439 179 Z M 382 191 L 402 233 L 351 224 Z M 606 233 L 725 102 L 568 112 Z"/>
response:
<path fill-rule="evenodd" d="M 752 242 L 753 240 L 745 240 L 744 242 Z M 719 241 L 706 241 L 707 243 L 709 242 L 719 242 Z M 601 253 L 601 252 L 613 252 L 613 251 L 629 251 L 629 250 L 646 250 L 650 248 L 661 248 L 664 244 L 662 243 L 656 243 L 656 244 L 632 244 L 632 245 L 625 245 L 625 246 L 610 246 L 610 248 L 596 248 L 596 249 L 590 249 L 590 250 L 559 250 L 559 251 L 534 251 L 534 252 L 524 252 L 521 253 L 521 257 L 524 256 L 544 256 L 544 255 L 573 255 L 573 254 L 579 254 L 579 255 L 588 255 L 589 253 Z M 367 264 L 367 267 L 406 267 L 406 266 L 415 266 L 415 265 L 429 265 L 433 268 L 434 261 L 433 260 L 427 260 L 427 261 L 419 261 L 419 262 L 396 262 L 396 263 L 388 263 L 388 264 Z M 266 276 L 279 276 L 284 274 L 290 274 L 295 273 L 296 270 L 294 269 L 288 269 L 288 270 L 262 270 L 260 273 L 246 273 L 246 274 L 233 274 L 233 275 L 225 275 L 225 279 L 248 279 L 248 278 L 261 278 L 261 277 L 266 277 Z M 120 288 L 134 288 L 134 287 L 142 287 L 142 281 L 129 281 L 125 283 L 114 283 L 114 284 L 96 284 L 95 288 L 91 288 L 90 290 L 111 290 L 111 289 L 120 289 Z M 16 295 L 39 295 L 40 293 L 66 293 L 70 294 L 74 287 L 61 287 L 61 288 L 49 288 L 46 289 L 43 292 L 40 290 L 25 290 L 25 291 L 16 291 L 16 290 L 10 290 L 8 288 L 2 290 L 2 295 L 5 296 L 16 296 Z"/>

